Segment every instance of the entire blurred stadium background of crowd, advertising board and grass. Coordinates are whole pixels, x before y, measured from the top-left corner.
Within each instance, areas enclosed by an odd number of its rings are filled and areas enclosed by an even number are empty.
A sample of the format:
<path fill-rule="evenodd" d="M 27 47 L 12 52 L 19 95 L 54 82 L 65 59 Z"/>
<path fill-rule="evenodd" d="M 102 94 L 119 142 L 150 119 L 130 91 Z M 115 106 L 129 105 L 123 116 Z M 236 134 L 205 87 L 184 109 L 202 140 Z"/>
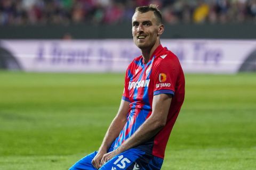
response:
<path fill-rule="evenodd" d="M 255 0 L 0 0 L 0 170 L 68 169 L 98 149 L 149 3 L 186 74 L 162 169 L 255 169 Z"/>

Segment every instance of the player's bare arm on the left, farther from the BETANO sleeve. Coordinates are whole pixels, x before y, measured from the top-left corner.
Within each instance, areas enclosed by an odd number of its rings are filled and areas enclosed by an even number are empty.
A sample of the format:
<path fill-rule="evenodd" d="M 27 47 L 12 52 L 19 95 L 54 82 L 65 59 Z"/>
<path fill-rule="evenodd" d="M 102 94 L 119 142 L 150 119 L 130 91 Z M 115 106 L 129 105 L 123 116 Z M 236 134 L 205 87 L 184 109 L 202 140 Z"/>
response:
<path fill-rule="evenodd" d="M 117 112 L 117 115 L 115 116 L 114 120 L 111 122 L 105 137 L 102 141 L 102 144 L 99 148 L 98 154 L 94 157 L 92 160 L 92 164 L 95 168 L 99 168 L 101 158 L 104 154 L 107 153 L 109 147 L 111 146 L 111 143 L 117 138 L 121 130 L 123 129 L 125 123 L 126 123 L 126 116 L 129 112 L 130 103 L 125 100 L 121 100 L 121 104 L 119 107 L 119 110 Z"/>

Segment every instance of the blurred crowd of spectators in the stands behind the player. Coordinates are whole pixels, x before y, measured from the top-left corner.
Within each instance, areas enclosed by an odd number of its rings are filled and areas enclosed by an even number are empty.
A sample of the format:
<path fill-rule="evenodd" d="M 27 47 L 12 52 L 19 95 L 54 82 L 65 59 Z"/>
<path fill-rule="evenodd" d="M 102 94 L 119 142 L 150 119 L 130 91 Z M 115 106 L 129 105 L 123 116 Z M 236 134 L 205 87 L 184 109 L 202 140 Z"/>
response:
<path fill-rule="evenodd" d="M 0 0 L 0 25 L 118 24 L 159 5 L 164 23 L 256 23 L 256 0 Z"/>

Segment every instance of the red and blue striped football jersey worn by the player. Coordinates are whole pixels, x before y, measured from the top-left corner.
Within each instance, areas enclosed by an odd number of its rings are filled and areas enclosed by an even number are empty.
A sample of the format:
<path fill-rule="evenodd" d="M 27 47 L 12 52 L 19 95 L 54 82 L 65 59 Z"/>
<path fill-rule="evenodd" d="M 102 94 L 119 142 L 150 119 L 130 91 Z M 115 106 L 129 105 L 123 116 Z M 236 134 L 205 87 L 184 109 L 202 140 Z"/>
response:
<path fill-rule="evenodd" d="M 170 94 L 172 102 L 164 128 L 137 148 L 164 158 L 172 127 L 185 96 L 185 78 L 180 62 L 170 50 L 159 45 L 147 64 L 135 58 L 126 70 L 123 100 L 130 102 L 127 122 L 111 147 L 116 149 L 147 120 L 152 113 L 154 95 Z"/>

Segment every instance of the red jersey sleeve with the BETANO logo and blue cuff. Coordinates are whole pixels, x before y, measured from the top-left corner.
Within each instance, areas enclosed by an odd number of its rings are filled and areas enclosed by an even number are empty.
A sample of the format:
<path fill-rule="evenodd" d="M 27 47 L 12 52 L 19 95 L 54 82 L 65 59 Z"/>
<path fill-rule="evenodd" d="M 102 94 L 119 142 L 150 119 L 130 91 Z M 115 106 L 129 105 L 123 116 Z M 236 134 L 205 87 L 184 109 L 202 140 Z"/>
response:
<path fill-rule="evenodd" d="M 167 56 L 157 62 L 152 70 L 154 95 L 158 94 L 175 94 L 175 84 L 179 74 L 179 63 L 174 58 L 175 56 Z"/>

